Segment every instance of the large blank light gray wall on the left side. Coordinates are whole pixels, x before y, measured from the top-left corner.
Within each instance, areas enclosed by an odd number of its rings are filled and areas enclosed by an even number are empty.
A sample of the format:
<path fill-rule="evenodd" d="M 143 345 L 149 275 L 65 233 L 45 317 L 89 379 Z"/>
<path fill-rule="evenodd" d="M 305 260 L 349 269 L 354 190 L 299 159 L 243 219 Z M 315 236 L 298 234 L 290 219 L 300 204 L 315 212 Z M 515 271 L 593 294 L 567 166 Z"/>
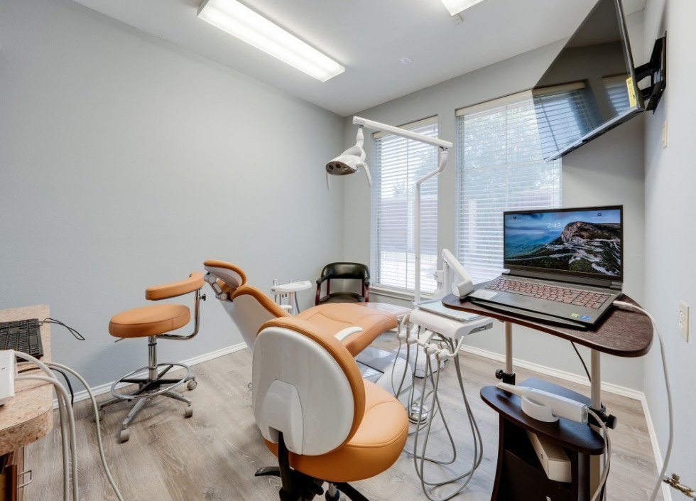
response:
<path fill-rule="evenodd" d="M 0 308 L 50 304 L 87 337 L 54 327 L 53 360 L 91 384 L 145 365 L 145 340 L 114 345 L 107 325 L 146 286 L 214 257 L 267 289 L 340 257 L 342 193 L 317 169 L 342 134 L 335 114 L 70 0 L 0 0 Z M 198 337 L 161 341 L 161 358 L 239 342 L 209 294 Z"/>

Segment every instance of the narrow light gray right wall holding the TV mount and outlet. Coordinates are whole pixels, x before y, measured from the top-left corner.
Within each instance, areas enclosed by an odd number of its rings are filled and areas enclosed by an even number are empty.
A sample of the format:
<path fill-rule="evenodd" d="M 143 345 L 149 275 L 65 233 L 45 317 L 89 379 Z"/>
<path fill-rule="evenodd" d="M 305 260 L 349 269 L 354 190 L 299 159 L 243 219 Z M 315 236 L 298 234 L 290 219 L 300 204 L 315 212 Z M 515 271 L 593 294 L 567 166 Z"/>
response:
<path fill-rule="evenodd" d="M 648 0 L 645 57 L 653 41 L 668 31 L 667 90 L 656 114 L 646 117 L 646 306 L 665 338 L 675 412 L 675 449 L 670 468 L 686 485 L 696 484 L 696 143 L 693 85 L 696 3 Z M 668 122 L 668 146 L 662 147 L 662 127 Z M 678 302 L 691 306 L 690 341 L 677 330 Z M 657 342 L 656 342 L 657 343 Z M 657 347 L 646 357 L 646 396 L 662 453 L 667 447 L 668 419 L 662 362 Z M 675 493 L 677 500 L 680 494 Z"/>

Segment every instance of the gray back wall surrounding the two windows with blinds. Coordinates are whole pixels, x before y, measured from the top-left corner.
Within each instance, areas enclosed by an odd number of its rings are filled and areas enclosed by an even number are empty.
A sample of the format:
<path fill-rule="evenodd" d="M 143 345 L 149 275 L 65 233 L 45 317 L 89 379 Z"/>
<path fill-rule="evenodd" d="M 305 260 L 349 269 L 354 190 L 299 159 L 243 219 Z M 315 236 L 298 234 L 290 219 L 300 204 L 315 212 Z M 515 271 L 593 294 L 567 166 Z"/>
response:
<path fill-rule="evenodd" d="M 642 53 L 643 13 L 629 16 L 634 53 Z M 455 140 L 455 109 L 526 90 L 537 82 L 563 43 L 555 43 L 467 75 L 367 109 L 357 114 L 388 124 L 405 124 L 438 116 L 440 137 Z M 351 117 L 345 119 L 344 141 L 355 142 Z M 366 149 L 371 149 L 371 138 Z M 625 210 L 626 293 L 643 299 L 643 126 L 634 119 L 610 131 L 592 144 L 563 158 L 563 203 L 566 206 L 623 204 Z M 455 147 L 456 150 L 456 147 Z M 442 173 L 439 189 L 439 247 L 455 248 L 456 158 Z M 362 176 L 349 176 L 344 183 L 344 259 L 370 261 L 370 193 Z M 374 300 L 399 302 L 378 296 Z M 402 302 L 403 303 L 403 302 Z M 523 360 L 582 373 L 570 343 L 549 335 L 515 328 L 515 355 Z M 503 352 L 501 325 L 473 335 L 467 343 L 493 352 Z M 583 350 L 589 357 L 589 352 Z M 632 389 L 643 388 L 643 362 L 605 357 L 602 379 Z M 589 359 L 588 359 L 589 360 Z"/>

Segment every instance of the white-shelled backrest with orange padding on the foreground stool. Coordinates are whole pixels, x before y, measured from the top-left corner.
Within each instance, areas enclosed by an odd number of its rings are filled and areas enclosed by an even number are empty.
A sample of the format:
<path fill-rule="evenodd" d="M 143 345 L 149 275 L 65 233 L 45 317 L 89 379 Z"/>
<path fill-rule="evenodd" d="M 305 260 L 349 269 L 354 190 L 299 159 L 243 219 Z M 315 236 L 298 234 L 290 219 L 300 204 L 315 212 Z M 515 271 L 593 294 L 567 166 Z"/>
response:
<path fill-rule="evenodd" d="M 320 456 L 344 446 L 362 420 L 365 387 L 342 343 L 299 318 L 261 326 L 252 362 L 252 406 L 263 438 Z"/>

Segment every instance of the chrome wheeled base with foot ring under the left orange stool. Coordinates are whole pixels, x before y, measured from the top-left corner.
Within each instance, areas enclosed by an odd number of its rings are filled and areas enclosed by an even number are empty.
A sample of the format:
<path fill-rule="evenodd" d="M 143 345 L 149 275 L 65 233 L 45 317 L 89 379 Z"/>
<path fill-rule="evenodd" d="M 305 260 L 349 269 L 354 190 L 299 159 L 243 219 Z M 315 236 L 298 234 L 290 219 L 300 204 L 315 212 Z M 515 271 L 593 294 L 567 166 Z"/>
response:
<path fill-rule="evenodd" d="M 178 400 L 179 402 L 184 402 L 186 404 L 184 417 L 189 418 L 193 415 L 193 406 L 191 400 L 184 397 L 183 394 L 176 392 L 175 387 L 178 387 L 180 384 L 187 383 L 187 389 L 193 390 L 198 384 L 196 382 L 196 377 L 191 375 L 191 368 L 188 365 L 177 363 L 158 364 L 156 362 L 156 345 L 156 338 L 150 338 L 148 350 L 150 352 L 151 365 L 131 371 L 121 377 L 118 381 L 114 382 L 111 388 L 111 393 L 114 397 L 106 402 L 102 402 L 102 404 L 99 404 L 99 415 L 97 416 L 97 419 L 101 421 L 104 419 L 106 414 L 106 411 L 104 411 L 105 407 L 124 401 L 134 400 L 136 402 L 129 411 L 128 416 L 126 416 L 126 419 L 124 419 L 124 421 L 121 423 L 121 430 L 118 434 L 119 442 L 128 441 L 130 438 L 130 431 L 128 429 L 129 424 L 131 424 L 143 407 L 145 407 L 148 402 L 156 397 L 168 397 L 170 399 Z M 183 377 L 165 377 L 172 369 L 184 369 L 186 374 Z M 142 372 L 146 372 L 144 377 L 134 377 L 138 373 Z M 121 392 L 119 391 L 121 390 L 121 388 L 118 387 L 119 384 L 137 384 L 138 388 L 130 393 Z"/>

